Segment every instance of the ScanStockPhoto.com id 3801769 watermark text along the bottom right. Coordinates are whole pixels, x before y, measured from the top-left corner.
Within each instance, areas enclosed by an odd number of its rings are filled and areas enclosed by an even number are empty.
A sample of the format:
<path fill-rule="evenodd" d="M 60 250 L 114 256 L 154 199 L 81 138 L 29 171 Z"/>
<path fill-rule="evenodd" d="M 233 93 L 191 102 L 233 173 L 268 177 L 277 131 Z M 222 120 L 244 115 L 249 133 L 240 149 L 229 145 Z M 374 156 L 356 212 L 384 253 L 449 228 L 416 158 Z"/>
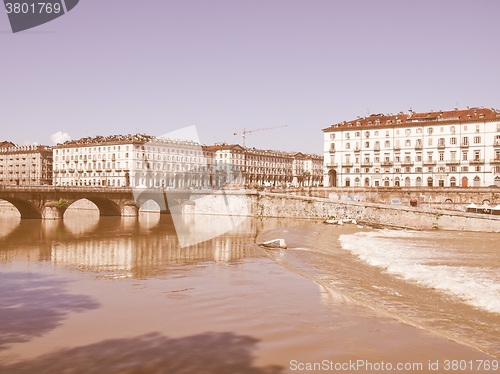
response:
<path fill-rule="evenodd" d="M 500 360 L 428 360 L 426 362 L 385 362 L 370 360 L 348 360 L 331 361 L 322 360 L 318 362 L 290 361 L 290 370 L 297 373 L 307 372 L 497 372 L 500 367 Z"/>

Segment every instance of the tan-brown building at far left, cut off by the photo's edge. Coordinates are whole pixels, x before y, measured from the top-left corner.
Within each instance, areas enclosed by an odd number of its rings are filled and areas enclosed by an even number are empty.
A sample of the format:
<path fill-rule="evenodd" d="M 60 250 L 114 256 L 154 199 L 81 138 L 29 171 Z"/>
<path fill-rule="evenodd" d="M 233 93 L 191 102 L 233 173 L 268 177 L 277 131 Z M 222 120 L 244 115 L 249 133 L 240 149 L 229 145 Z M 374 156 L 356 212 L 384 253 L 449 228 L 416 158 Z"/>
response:
<path fill-rule="evenodd" d="M 41 186 L 52 184 L 52 150 L 46 146 L 0 146 L 0 185 Z"/>

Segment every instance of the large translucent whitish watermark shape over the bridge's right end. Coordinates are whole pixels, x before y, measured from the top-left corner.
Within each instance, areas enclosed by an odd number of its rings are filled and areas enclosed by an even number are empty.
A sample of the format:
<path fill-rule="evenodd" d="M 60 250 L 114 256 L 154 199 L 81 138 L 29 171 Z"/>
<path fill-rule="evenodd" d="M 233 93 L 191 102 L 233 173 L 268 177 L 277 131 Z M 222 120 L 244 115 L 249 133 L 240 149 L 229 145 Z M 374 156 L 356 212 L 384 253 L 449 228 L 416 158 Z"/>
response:
<path fill-rule="evenodd" d="M 216 160 L 215 152 L 201 145 L 195 126 L 145 136 L 132 152 L 128 183 L 137 208 L 153 201 L 160 212 L 167 211 L 180 247 L 225 234 L 249 216 L 242 161 Z M 217 218 L 207 222 L 196 213 Z"/>

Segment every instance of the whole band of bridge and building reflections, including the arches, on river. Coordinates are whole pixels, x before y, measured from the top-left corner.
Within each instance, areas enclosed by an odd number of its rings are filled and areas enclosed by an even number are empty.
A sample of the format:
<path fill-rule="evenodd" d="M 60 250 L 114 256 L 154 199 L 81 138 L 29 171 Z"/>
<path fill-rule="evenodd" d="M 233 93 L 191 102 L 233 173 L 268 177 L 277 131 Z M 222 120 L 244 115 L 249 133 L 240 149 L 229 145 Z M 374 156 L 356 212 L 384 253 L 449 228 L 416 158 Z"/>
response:
<path fill-rule="evenodd" d="M 109 276 L 147 277 L 171 271 L 173 265 L 260 256 L 258 248 L 248 245 L 258 233 L 264 227 L 269 230 L 290 224 L 248 218 L 214 238 L 213 230 L 231 224 L 230 218 L 186 215 L 183 232 L 196 236 L 198 244 L 182 248 L 170 215 L 141 213 L 138 218 L 120 218 L 79 213 L 62 221 L 15 221 L 11 225 L 17 226 L 0 239 L 0 262 L 51 261 Z"/>

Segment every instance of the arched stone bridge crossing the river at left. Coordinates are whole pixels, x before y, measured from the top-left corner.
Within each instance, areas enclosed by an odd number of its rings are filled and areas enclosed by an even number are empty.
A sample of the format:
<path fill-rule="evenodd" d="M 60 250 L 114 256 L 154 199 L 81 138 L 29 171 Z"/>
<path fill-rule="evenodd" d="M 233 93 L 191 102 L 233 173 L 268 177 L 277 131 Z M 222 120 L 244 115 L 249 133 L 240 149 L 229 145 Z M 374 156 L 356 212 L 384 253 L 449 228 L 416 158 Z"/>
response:
<path fill-rule="evenodd" d="M 101 216 L 136 216 L 150 200 L 158 204 L 161 213 L 170 213 L 189 201 L 190 195 L 185 190 L 0 186 L 0 200 L 14 205 L 21 218 L 38 219 L 61 219 L 66 209 L 81 199 L 93 202 Z"/>

